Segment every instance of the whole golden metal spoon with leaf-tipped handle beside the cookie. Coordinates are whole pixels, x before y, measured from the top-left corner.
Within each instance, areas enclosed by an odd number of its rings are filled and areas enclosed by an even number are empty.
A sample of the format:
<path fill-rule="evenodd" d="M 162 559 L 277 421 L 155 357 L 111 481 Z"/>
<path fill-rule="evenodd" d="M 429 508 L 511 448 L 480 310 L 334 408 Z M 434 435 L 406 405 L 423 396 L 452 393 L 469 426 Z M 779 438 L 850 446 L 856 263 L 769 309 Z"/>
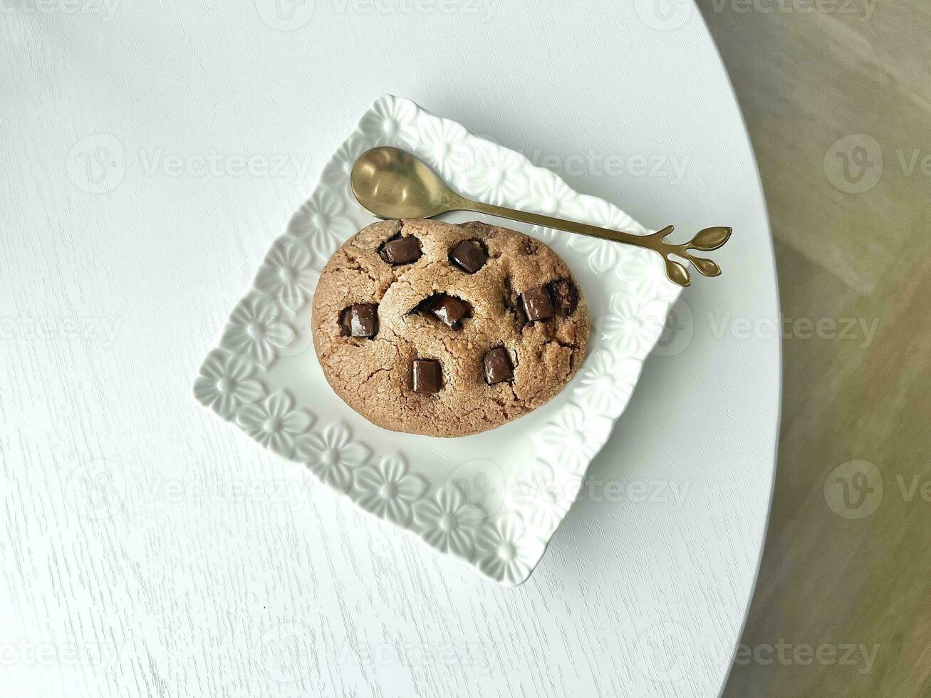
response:
<path fill-rule="evenodd" d="M 717 276 L 721 274 L 721 267 L 707 258 L 693 257 L 688 250 L 717 249 L 731 236 L 731 228 L 716 226 L 699 231 L 686 243 L 672 245 L 664 242 L 664 238 L 673 231 L 671 225 L 651 235 L 634 235 L 472 201 L 453 192 L 432 169 L 414 155 L 389 146 L 372 148 L 361 154 L 352 168 L 350 183 L 358 203 L 376 218 L 433 218 L 448 211 L 476 211 L 511 221 L 542 225 L 545 228 L 556 228 L 652 249 L 666 262 L 666 275 L 669 280 L 680 286 L 688 286 L 692 279 L 681 262 L 669 258 L 670 254 L 695 264 L 699 274 Z"/>

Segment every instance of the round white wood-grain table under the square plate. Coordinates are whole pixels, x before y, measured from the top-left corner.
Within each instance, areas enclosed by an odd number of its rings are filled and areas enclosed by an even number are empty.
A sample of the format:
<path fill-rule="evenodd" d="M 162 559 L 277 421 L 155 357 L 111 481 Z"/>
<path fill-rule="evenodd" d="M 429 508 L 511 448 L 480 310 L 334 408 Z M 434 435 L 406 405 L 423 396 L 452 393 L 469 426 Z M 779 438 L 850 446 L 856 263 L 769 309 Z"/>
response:
<path fill-rule="evenodd" d="M 697 12 L 257 2 L 3 4 L 5 694 L 720 691 L 770 500 L 779 332 L 760 183 Z M 269 239 L 385 92 L 647 225 L 735 228 L 516 589 L 191 396 Z"/>

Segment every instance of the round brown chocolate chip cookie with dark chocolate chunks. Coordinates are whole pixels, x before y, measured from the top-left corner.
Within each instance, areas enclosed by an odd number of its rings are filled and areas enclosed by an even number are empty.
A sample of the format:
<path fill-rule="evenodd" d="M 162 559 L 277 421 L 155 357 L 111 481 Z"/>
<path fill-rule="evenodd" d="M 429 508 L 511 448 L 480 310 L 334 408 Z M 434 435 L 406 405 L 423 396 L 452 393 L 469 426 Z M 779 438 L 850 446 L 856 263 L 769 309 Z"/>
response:
<path fill-rule="evenodd" d="M 381 221 L 336 250 L 314 346 L 337 395 L 385 429 L 466 436 L 540 407 L 585 357 L 585 299 L 542 242 L 470 222 Z"/>

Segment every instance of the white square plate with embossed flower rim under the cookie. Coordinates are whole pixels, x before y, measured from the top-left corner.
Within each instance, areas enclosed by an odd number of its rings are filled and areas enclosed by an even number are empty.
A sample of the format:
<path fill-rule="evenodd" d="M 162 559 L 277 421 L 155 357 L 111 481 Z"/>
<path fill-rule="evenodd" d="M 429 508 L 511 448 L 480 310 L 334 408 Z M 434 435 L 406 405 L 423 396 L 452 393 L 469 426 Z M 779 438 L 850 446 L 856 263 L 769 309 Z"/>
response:
<path fill-rule="evenodd" d="M 196 398 L 376 517 L 502 584 L 543 556 L 640 376 L 680 288 L 653 252 L 494 221 L 534 235 L 569 264 L 592 318 L 588 356 L 544 407 L 492 431 L 443 439 L 389 432 L 331 390 L 317 364 L 310 302 L 331 254 L 374 219 L 349 190 L 358 155 L 395 145 L 462 194 L 608 228 L 647 231 L 523 155 L 412 101 L 376 100 L 331 157 L 310 199 L 272 244 L 200 368 Z M 481 219 L 457 214 L 445 220 Z"/>

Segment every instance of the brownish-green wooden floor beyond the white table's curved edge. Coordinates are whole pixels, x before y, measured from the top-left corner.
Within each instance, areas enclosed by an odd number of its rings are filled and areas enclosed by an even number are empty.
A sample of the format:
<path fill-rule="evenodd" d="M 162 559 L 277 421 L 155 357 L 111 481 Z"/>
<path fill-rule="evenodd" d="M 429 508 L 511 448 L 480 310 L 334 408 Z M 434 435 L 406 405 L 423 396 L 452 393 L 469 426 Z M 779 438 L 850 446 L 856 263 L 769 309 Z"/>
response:
<path fill-rule="evenodd" d="M 857 330 L 783 342 L 776 495 L 743 643 L 782 641 L 789 661 L 762 654 L 736 664 L 725 695 L 927 695 L 931 172 L 907 166 L 915 151 L 931 154 L 931 7 L 880 0 L 869 15 L 864 6 L 700 7 L 757 154 L 782 313 L 877 328 L 870 341 Z M 823 167 L 849 134 L 871 136 L 884 155 L 879 180 L 861 194 L 833 186 Z M 879 469 L 884 489 L 875 513 L 848 519 L 824 491 L 834 469 L 856 459 Z M 875 661 L 791 655 L 823 643 L 862 644 Z"/>

